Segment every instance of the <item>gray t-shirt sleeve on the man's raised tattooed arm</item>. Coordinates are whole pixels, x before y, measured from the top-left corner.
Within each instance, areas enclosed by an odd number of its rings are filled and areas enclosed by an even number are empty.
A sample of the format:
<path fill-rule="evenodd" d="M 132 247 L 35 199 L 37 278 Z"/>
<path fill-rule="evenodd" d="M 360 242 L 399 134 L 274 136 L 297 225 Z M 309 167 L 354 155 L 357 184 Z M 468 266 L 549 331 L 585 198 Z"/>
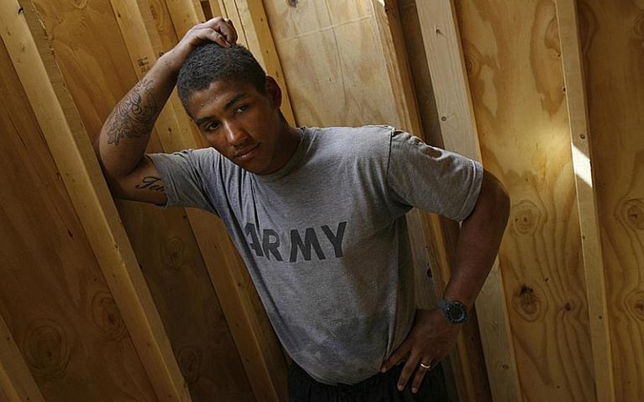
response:
<path fill-rule="evenodd" d="M 217 214 L 204 178 L 205 171 L 212 172 L 212 151 L 187 149 L 173 154 L 146 154 L 146 157 L 154 163 L 166 188 L 168 202 L 162 207 L 195 207 Z"/>

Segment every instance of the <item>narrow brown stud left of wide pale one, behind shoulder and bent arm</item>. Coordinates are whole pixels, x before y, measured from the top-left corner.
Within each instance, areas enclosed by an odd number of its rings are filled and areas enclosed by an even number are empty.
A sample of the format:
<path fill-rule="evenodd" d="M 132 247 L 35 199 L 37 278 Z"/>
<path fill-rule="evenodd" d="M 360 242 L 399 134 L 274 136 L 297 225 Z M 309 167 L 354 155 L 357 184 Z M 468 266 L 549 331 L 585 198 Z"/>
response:
<path fill-rule="evenodd" d="M 376 25 L 380 33 L 383 55 L 389 71 L 389 82 L 391 83 L 396 110 L 401 120 L 401 128 L 424 138 L 425 135 L 418 115 L 418 107 L 412 86 L 405 46 L 406 39 L 403 36 L 398 2 L 388 0 L 383 3 L 381 0 L 373 0 L 372 5 L 374 6 Z M 414 215 L 411 214 L 408 218 L 408 220 L 411 220 Z M 449 281 L 449 272 L 451 271 L 449 261 L 452 260 L 447 248 L 447 241 L 444 239 L 444 222 L 436 215 L 425 213 L 422 213 L 421 219 L 421 224 L 425 226 L 425 243 L 431 243 L 431 245 L 427 246 L 427 249 L 435 251 L 435 258 L 433 258 L 435 264 L 432 264 L 431 268 L 436 293 L 442 294 L 445 285 Z M 413 224 L 410 226 L 413 226 Z M 411 232 L 410 236 L 414 236 L 414 234 L 415 232 Z M 426 280 L 424 282 L 427 283 Z M 435 307 L 433 299 L 435 298 L 419 299 L 418 302 L 422 308 L 431 309 Z M 478 328 L 476 328 L 476 323 L 474 322 L 468 323 L 465 327 L 464 331 L 459 333 L 456 348 L 450 354 L 449 364 L 452 369 L 452 375 L 448 375 L 447 380 L 448 383 L 452 384 L 448 384 L 448 386 L 450 389 L 458 389 L 459 394 L 464 399 L 489 400 L 490 391 L 485 375 L 483 353 L 481 346 L 477 347 L 481 343 L 478 340 Z M 470 342 L 468 343 L 467 340 L 470 340 Z M 456 395 L 453 398 L 456 398 Z"/>

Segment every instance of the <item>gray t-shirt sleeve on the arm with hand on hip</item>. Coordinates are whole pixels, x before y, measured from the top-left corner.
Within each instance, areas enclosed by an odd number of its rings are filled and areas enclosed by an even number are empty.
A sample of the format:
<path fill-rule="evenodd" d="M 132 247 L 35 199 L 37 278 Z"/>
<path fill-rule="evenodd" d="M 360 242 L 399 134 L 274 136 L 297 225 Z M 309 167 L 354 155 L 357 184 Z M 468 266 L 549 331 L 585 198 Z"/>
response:
<path fill-rule="evenodd" d="M 390 140 L 387 186 L 393 198 L 455 221 L 466 219 L 481 191 L 481 163 L 407 132 L 392 130 Z"/>

